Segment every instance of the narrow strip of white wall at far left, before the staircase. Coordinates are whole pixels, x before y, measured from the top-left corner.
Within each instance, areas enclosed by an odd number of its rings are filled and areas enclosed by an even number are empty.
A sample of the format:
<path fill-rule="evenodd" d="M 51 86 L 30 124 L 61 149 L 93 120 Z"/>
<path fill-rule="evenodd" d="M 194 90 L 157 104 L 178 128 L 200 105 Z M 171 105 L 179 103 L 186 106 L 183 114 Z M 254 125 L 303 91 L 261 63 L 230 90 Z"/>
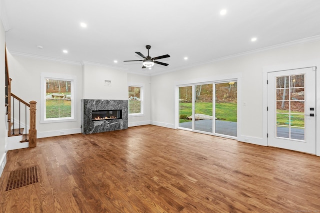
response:
<path fill-rule="evenodd" d="M 5 74 L 4 74 L 4 28 L 2 21 L 0 21 L 0 87 L 4 88 L 5 86 Z M 4 95 L 4 89 L 2 90 Z M 2 97 L 3 97 L 2 95 Z M 4 97 L 0 98 L 0 176 L 3 172 L 4 165 L 6 163 L 6 145 L 7 145 L 7 122 L 6 122 L 6 109 L 4 107 L 5 100 Z"/>

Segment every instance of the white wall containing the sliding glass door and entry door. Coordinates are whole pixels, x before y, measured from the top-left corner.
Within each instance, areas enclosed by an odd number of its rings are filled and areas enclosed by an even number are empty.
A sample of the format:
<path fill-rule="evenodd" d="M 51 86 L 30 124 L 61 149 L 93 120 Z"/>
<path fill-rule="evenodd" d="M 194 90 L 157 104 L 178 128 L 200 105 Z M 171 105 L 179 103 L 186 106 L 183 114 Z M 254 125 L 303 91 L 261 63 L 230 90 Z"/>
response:
<path fill-rule="evenodd" d="M 320 68 L 320 41 L 292 44 L 224 60 L 212 61 L 175 72 L 151 76 L 151 121 L 160 126 L 175 127 L 175 88 L 177 82 L 214 81 L 221 77 L 241 76 L 240 132 L 249 143 L 265 144 L 263 129 L 263 84 L 262 70 L 267 66 L 295 64 L 310 61 L 310 66 Z M 319 71 L 318 71 L 319 72 Z M 317 100 L 317 108 L 320 108 Z M 245 106 L 244 106 L 245 103 Z M 320 125 L 317 132 L 320 132 Z M 318 143 L 319 147 L 320 144 Z"/>

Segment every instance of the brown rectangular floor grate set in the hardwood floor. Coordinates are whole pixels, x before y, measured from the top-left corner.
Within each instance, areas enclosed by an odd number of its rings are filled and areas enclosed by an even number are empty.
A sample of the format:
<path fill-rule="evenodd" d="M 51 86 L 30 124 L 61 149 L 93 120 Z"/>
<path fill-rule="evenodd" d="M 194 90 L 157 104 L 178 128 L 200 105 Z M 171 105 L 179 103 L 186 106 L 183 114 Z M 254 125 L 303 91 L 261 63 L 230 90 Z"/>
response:
<path fill-rule="evenodd" d="M 10 172 L 5 191 L 14 190 L 38 182 L 38 172 L 36 166 L 15 170 Z"/>

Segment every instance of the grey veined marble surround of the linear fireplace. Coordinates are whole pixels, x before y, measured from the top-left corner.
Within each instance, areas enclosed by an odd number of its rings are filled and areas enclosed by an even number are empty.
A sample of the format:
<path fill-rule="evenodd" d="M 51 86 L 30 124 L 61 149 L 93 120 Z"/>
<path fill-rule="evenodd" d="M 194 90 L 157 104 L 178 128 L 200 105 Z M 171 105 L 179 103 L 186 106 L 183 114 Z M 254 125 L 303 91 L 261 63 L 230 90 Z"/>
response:
<path fill-rule="evenodd" d="M 92 121 L 92 111 L 122 110 L 121 119 Z M 91 134 L 128 128 L 128 100 L 81 99 L 81 133 Z"/>

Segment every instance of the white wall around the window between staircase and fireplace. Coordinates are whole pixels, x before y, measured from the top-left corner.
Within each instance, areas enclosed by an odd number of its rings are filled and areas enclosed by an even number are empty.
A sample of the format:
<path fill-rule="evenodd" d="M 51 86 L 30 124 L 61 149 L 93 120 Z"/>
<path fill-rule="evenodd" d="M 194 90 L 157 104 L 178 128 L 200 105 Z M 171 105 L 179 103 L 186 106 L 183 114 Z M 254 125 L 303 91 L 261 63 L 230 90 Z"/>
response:
<path fill-rule="evenodd" d="M 10 51 L 8 49 L 8 51 Z M 26 102 L 34 100 L 36 104 L 36 130 L 37 138 L 57 135 L 74 134 L 81 132 L 81 64 L 66 63 L 62 61 L 47 60 L 24 55 L 8 53 L 9 75 L 12 78 L 11 92 Z M 76 121 L 41 124 L 40 121 L 40 73 L 60 73 L 76 76 Z"/>

